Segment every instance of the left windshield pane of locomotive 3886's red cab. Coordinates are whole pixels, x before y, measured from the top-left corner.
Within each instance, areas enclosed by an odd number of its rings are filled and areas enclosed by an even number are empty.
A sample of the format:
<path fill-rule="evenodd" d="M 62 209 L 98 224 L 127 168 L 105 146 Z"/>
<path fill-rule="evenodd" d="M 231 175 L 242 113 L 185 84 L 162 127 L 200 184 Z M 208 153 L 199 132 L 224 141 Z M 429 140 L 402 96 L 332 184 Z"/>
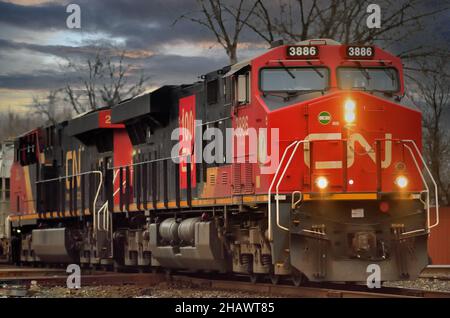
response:
<path fill-rule="evenodd" d="M 261 90 L 264 92 L 298 92 L 325 90 L 328 69 L 324 67 L 281 67 L 261 70 Z"/>

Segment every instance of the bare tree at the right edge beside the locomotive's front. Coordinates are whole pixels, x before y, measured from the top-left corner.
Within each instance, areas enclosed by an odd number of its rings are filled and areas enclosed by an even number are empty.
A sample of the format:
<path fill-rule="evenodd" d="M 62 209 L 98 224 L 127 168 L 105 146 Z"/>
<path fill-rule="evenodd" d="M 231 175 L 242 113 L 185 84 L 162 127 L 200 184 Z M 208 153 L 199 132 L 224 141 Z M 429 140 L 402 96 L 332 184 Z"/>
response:
<path fill-rule="evenodd" d="M 450 72 L 446 60 L 426 60 L 408 96 L 421 111 L 423 144 L 442 202 L 450 205 Z"/>

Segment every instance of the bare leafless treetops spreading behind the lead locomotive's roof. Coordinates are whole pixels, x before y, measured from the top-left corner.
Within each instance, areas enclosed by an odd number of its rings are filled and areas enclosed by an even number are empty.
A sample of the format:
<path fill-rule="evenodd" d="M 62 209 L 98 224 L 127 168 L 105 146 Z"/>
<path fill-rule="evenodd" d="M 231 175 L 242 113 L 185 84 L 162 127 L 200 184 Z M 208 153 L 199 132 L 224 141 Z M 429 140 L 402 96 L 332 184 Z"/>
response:
<path fill-rule="evenodd" d="M 229 0 L 198 0 L 202 18 L 195 13 L 181 18 L 210 30 L 217 42 L 224 47 L 230 60 L 235 62 L 239 36 L 244 27 L 248 27 L 269 44 L 277 38 L 289 42 L 331 38 L 342 43 L 376 43 L 386 49 L 416 37 L 424 29 L 426 19 L 432 19 L 450 9 L 448 1 L 436 3 L 432 7 L 426 6 L 421 0 L 380 0 L 376 3 L 382 9 L 381 28 L 368 28 L 367 7 L 372 2 L 240 0 L 236 5 L 236 1 Z M 428 56 L 436 52 L 434 47 L 423 43 L 404 49 L 398 52 L 404 59 Z"/>

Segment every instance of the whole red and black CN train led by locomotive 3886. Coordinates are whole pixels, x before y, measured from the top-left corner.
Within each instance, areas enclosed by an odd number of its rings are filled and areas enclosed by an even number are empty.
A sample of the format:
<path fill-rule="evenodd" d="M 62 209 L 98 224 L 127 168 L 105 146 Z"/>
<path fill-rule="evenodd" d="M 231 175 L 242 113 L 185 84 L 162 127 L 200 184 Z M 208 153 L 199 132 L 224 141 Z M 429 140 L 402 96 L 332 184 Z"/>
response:
<path fill-rule="evenodd" d="M 436 189 L 403 82 L 380 48 L 310 40 L 20 136 L 11 258 L 414 278 Z"/>

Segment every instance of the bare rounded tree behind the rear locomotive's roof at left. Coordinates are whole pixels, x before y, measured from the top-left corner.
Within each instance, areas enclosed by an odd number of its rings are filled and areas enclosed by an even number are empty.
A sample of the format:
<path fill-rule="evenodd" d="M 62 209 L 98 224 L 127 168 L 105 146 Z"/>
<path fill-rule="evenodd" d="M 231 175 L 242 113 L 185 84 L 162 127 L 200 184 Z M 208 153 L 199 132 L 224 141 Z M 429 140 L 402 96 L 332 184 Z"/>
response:
<path fill-rule="evenodd" d="M 148 78 L 141 75 L 135 83 L 130 83 L 133 66 L 125 64 L 126 52 L 118 56 L 113 53 L 100 49 L 85 63 L 68 61 L 67 69 L 81 74 L 78 83 L 65 86 L 66 101 L 75 113 L 112 106 L 144 90 Z"/>

